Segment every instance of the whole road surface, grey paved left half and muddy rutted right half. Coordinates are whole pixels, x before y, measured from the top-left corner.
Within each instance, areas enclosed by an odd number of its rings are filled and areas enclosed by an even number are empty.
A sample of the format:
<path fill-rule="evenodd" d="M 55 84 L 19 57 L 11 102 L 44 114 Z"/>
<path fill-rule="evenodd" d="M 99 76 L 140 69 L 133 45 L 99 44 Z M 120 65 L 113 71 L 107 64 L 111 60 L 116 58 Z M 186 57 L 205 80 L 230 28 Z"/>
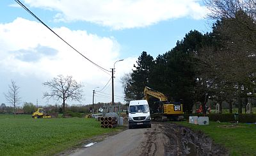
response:
<path fill-rule="evenodd" d="M 228 155 L 228 152 L 200 132 L 164 122 L 152 123 L 149 129 L 127 129 L 63 155 Z"/>

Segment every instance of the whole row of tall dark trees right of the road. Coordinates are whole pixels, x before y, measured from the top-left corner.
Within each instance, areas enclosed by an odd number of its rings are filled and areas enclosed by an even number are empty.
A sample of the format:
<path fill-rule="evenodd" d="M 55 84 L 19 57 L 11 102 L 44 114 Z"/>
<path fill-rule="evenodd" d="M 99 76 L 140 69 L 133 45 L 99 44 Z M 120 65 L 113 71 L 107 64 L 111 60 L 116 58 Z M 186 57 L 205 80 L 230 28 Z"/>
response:
<path fill-rule="evenodd" d="M 216 22 L 212 31 L 189 31 L 172 50 L 154 59 L 143 51 L 129 74 L 122 77 L 125 100 L 144 97 L 145 86 L 182 102 L 191 113 L 197 102 L 211 99 L 221 104 L 242 103 L 255 97 L 256 25 L 255 1 L 205 0 Z M 242 102 L 244 101 L 244 102 Z M 205 107 L 203 107 L 205 113 Z"/>

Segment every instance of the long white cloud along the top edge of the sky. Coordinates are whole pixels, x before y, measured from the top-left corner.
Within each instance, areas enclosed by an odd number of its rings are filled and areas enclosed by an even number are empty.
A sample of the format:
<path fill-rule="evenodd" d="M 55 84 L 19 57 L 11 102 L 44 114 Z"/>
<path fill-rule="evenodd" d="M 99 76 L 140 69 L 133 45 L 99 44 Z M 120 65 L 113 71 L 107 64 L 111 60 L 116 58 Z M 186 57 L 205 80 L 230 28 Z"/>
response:
<path fill-rule="evenodd" d="M 127 29 L 146 27 L 163 20 L 189 17 L 202 19 L 207 8 L 200 0 L 24 0 L 30 7 L 54 10 L 55 21 L 83 20 L 111 27 Z"/>

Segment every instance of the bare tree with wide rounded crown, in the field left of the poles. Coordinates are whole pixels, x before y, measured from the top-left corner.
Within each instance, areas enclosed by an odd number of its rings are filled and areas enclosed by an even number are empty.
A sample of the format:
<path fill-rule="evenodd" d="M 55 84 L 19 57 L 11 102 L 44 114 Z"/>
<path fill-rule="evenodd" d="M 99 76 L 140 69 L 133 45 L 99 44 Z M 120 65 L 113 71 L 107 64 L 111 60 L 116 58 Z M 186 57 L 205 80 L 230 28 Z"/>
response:
<path fill-rule="evenodd" d="M 77 83 L 72 79 L 72 76 L 63 77 L 63 75 L 58 75 L 51 81 L 44 82 L 43 85 L 51 90 L 51 93 L 44 93 L 44 98 L 47 98 L 47 100 L 54 98 L 63 101 L 63 117 L 65 117 L 66 100 L 81 101 L 82 99 L 83 84 Z"/>

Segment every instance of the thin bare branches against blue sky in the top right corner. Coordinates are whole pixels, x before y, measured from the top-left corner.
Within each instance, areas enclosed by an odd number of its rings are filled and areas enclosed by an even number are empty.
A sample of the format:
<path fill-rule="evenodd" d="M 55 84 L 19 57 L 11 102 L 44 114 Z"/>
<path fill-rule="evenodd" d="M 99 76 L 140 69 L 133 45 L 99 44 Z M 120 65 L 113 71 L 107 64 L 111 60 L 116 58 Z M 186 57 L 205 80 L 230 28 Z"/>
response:
<path fill-rule="evenodd" d="M 248 36 L 248 42 L 255 40 L 256 1 L 255 0 L 204 0 L 205 6 L 209 9 L 207 16 L 214 20 L 232 19 L 232 25 Z M 249 18 L 241 17 L 241 13 Z M 240 16 L 240 17 L 239 17 Z M 238 18 L 237 18 L 238 17 Z M 246 20 L 247 19 L 247 20 Z M 250 19 L 250 20 L 248 20 Z M 230 23 L 230 22 L 228 22 Z M 236 32 L 234 32 L 236 33 Z M 245 35 L 244 35 L 245 36 Z M 249 40 L 248 40 L 249 39 Z"/>

